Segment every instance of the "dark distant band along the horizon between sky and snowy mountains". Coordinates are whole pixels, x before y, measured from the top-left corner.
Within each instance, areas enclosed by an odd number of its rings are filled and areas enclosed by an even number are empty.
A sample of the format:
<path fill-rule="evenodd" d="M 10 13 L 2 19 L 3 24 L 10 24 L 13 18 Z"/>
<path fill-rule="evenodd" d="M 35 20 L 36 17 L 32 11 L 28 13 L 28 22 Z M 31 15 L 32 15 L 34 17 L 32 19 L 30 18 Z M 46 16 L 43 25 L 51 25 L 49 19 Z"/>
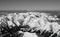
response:
<path fill-rule="evenodd" d="M 50 13 L 51 15 L 60 15 L 59 10 L 1 10 L 0 15 L 6 15 L 8 13 L 21 13 L 21 12 L 44 12 L 44 13 Z"/>

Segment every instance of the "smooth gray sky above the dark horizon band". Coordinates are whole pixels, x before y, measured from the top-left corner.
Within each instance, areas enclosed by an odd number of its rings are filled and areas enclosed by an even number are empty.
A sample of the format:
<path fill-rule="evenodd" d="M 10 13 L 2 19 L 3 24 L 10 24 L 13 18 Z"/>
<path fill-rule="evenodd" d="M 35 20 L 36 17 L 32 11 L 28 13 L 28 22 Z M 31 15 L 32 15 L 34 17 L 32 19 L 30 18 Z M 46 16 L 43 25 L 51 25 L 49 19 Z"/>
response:
<path fill-rule="evenodd" d="M 0 0 L 0 10 L 60 10 L 59 0 Z"/>

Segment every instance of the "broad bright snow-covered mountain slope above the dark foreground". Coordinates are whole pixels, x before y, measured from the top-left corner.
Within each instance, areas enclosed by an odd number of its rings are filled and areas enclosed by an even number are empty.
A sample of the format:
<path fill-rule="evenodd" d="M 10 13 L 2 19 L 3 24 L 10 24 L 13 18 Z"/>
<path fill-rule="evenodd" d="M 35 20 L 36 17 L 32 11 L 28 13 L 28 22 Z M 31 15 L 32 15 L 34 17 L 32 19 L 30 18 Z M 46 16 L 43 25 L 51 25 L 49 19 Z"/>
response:
<path fill-rule="evenodd" d="M 25 29 L 24 26 L 28 25 L 29 29 L 31 29 L 31 32 L 40 30 L 42 34 L 45 32 L 53 32 L 51 36 L 54 35 L 54 33 L 57 33 L 57 35 L 60 35 L 60 24 L 57 22 L 60 20 L 57 18 L 57 16 L 51 16 L 46 13 L 40 13 L 40 12 L 26 12 L 26 13 L 11 13 L 7 16 L 1 16 L 0 17 L 0 26 L 9 28 L 13 28 L 17 26 L 19 29 L 22 26 L 23 30 Z M 6 25 L 6 26 L 5 26 Z M 1 28 L 2 28 L 1 27 Z M 4 29 L 3 28 L 3 29 Z M 1 29 L 1 31 L 3 30 Z M 29 34 L 30 35 L 30 34 Z M 31 34 L 32 35 L 32 34 Z M 24 35 L 25 36 L 25 35 Z M 51 37 L 49 36 L 49 37 Z"/>

